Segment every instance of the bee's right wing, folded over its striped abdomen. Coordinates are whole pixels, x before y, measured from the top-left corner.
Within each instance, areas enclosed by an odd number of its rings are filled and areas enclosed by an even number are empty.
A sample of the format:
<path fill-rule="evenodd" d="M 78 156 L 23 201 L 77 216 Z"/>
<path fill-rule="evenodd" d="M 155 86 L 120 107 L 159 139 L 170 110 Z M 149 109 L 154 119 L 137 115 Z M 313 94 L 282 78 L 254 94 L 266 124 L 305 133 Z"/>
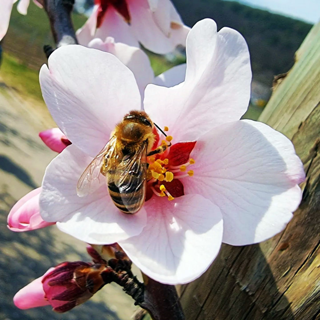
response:
<path fill-rule="evenodd" d="M 137 212 L 146 196 L 147 143 L 135 154 L 124 157 L 116 168 L 115 185 L 129 213 Z"/>

